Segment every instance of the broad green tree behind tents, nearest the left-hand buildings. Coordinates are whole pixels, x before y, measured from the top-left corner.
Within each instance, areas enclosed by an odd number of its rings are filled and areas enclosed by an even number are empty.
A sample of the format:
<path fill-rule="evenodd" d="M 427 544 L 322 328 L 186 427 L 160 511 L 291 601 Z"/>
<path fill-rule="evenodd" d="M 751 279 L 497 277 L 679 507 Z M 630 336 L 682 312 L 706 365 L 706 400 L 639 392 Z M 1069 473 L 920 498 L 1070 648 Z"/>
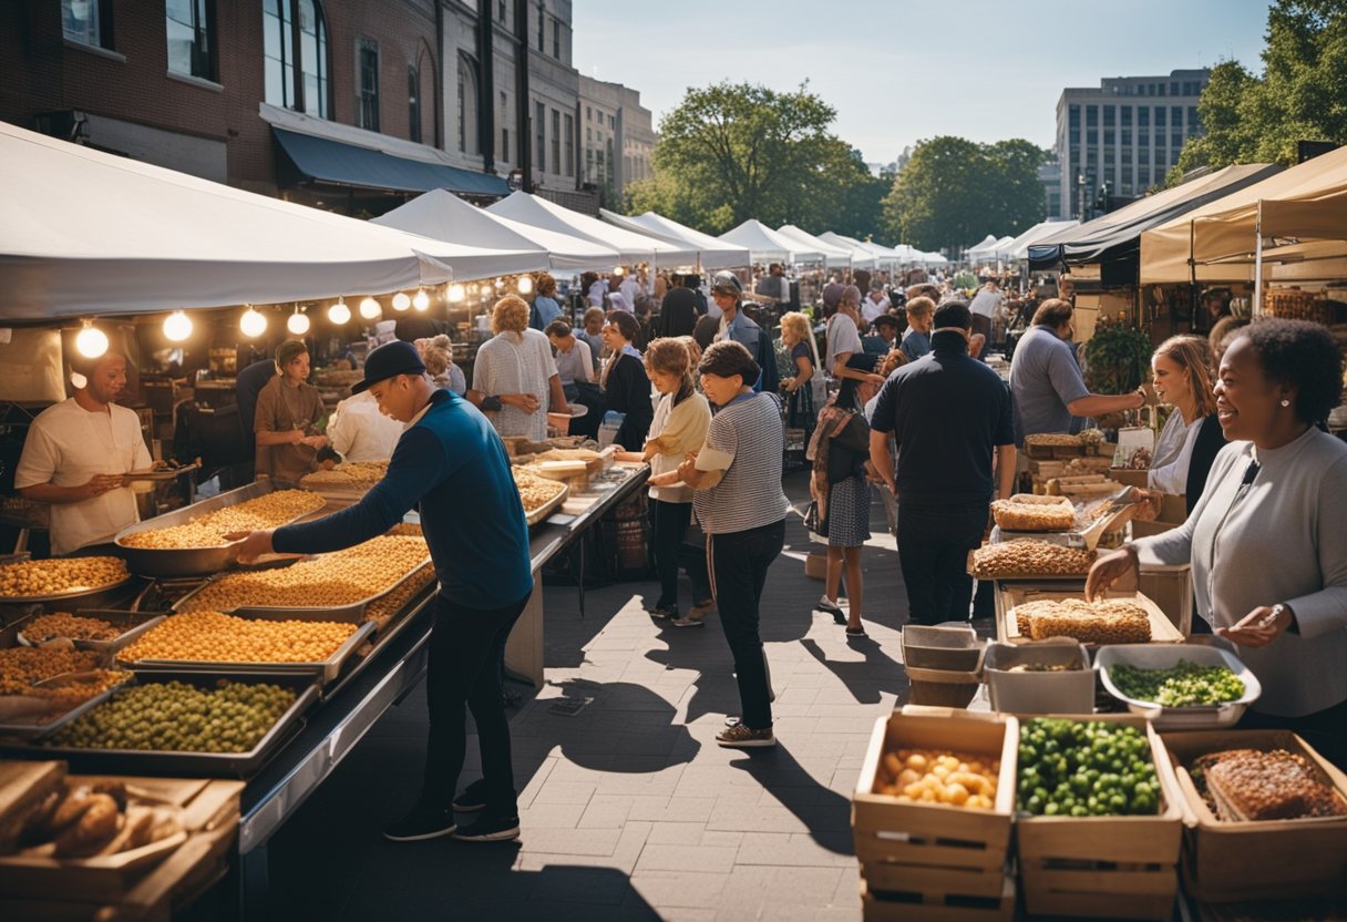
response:
<path fill-rule="evenodd" d="M 690 89 L 660 120 L 655 178 L 626 187 L 628 208 L 709 233 L 748 218 L 816 230 L 861 230 L 869 220 L 873 229 L 882 190 L 859 155 L 828 131 L 835 116 L 807 86 Z"/>

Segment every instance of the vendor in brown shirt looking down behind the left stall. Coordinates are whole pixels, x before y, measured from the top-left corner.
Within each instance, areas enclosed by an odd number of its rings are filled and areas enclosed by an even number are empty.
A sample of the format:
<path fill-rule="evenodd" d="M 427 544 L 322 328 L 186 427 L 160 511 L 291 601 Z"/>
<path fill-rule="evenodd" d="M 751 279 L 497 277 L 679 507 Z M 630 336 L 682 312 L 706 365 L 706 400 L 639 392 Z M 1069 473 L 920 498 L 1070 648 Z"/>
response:
<path fill-rule="evenodd" d="M 283 484 L 298 484 L 314 469 L 327 437 L 311 433 L 323 415 L 323 399 L 308 383 L 308 346 L 286 340 L 276 346 L 276 376 L 257 394 L 253 431 L 257 473 Z"/>

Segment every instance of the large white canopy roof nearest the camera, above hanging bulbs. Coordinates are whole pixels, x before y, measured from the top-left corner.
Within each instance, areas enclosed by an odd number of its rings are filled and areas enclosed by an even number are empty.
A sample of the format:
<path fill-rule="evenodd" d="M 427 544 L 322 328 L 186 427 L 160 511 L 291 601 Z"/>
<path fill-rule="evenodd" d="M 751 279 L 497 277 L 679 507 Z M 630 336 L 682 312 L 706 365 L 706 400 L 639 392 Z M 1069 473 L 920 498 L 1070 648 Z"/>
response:
<path fill-rule="evenodd" d="M 0 123 L 0 318 L 383 294 L 547 266 L 447 244 Z"/>

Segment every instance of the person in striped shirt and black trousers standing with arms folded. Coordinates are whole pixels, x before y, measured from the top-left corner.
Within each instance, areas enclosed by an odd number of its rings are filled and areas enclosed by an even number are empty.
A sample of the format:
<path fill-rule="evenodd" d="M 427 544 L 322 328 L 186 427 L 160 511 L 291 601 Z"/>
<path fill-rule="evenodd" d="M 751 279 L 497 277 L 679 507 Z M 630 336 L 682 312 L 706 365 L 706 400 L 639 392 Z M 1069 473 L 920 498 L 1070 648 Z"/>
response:
<path fill-rule="evenodd" d="M 744 709 L 715 741 L 737 748 L 776 745 L 758 604 L 768 569 L 785 542 L 791 508 L 781 492 L 781 400 L 753 391 L 761 369 L 738 342 L 714 344 L 698 371 L 702 391 L 719 412 L 711 418 L 702 450 L 651 483 L 682 480 L 692 487 L 692 507 L 706 532 L 711 588 Z"/>

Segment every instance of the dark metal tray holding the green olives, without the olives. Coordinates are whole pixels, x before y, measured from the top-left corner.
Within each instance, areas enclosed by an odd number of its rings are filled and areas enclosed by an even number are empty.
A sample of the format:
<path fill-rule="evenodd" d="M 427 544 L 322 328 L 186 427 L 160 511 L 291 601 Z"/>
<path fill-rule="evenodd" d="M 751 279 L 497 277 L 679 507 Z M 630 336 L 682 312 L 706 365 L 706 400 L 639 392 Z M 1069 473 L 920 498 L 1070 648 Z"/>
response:
<path fill-rule="evenodd" d="M 295 702 L 286 709 L 286 713 L 272 725 L 267 735 L 257 741 L 248 752 L 170 752 L 164 749 L 81 749 L 61 745 L 40 745 L 26 748 L 30 755 L 43 758 L 66 759 L 75 771 L 108 772 L 121 775 L 207 775 L 211 778 L 236 776 L 247 778 L 256 774 L 275 754 L 275 751 L 288 740 L 294 732 L 299 731 L 303 714 L 317 704 L 319 698 L 318 685 L 313 677 L 295 675 L 294 673 L 256 673 L 241 681 L 252 683 L 271 683 L 288 687 L 295 692 Z M 154 685 L 167 682 L 186 682 L 197 687 L 210 687 L 216 683 L 216 677 L 202 673 L 140 673 L 136 675 L 139 685 Z M 116 694 L 120 689 L 114 689 Z"/>

